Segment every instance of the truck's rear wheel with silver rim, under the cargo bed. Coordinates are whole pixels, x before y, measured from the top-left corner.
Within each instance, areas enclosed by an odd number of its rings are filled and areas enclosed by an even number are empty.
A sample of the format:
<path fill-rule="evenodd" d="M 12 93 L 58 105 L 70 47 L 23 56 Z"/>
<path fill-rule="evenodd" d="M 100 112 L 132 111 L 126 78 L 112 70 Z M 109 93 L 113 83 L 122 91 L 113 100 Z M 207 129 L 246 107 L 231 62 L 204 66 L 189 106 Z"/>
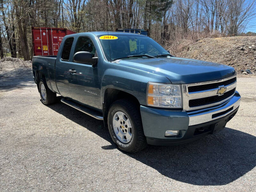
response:
<path fill-rule="evenodd" d="M 56 102 L 56 93 L 52 92 L 44 80 L 39 81 L 39 93 L 41 97 L 41 102 L 44 105 L 51 105 Z"/>

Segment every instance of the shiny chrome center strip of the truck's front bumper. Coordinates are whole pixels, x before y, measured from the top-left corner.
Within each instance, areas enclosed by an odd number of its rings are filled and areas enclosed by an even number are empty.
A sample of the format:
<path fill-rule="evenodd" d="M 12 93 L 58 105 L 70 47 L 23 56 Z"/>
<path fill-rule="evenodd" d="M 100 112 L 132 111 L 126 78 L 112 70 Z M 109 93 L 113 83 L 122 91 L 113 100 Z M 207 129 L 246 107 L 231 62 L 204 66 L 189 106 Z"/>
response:
<path fill-rule="evenodd" d="M 234 111 L 240 105 L 241 96 L 236 91 L 235 95 L 224 103 L 210 107 L 204 108 L 196 111 L 187 112 L 189 116 L 189 126 L 202 124 L 209 122 L 220 117 L 226 116 L 232 111 Z M 227 111 L 225 113 L 225 111 Z"/>

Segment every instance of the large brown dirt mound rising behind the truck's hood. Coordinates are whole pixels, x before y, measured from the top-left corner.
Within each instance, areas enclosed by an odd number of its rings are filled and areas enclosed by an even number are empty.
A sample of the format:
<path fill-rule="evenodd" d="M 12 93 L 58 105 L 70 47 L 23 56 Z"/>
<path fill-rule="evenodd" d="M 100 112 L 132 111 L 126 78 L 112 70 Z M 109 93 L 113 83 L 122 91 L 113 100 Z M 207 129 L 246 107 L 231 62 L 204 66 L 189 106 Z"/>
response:
<path fill-rule="evenodd" d="M 256 74 L 256 36 L 204 38 L 184 47 L 176 56 L 229 65 L 238 74 L 246 70 Z"/>

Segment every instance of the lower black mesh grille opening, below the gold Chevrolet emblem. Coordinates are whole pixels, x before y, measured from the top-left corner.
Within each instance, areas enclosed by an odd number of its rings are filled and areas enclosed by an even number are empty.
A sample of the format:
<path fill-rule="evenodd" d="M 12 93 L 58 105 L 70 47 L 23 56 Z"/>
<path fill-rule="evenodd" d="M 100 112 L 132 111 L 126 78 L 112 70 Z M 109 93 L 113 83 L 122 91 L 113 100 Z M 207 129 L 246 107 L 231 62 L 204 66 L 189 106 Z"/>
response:
<path fill-rule="evenodd" d="M 235 91 L 236 91 L 236 88 L 234 88 L 234 89 L 232 89 L 232 90 L 230 90 L 228 92 L 225 92 L 221 96 L 215 95 L 215 96 L 211 96 L 211 97 L 205 97 L 205 98 L 200 98 L 200 99 L 189 100 L 188 105 L 189 105 L 189 107 L 198 107 L 198 106 L 203 106 L 203 105 L 208 105 L 208 104 L 216 103 L 216 102 L 219 102 L 219 101 L 227 99 L 228 97 L 233 95 L 235 93 Z"/>

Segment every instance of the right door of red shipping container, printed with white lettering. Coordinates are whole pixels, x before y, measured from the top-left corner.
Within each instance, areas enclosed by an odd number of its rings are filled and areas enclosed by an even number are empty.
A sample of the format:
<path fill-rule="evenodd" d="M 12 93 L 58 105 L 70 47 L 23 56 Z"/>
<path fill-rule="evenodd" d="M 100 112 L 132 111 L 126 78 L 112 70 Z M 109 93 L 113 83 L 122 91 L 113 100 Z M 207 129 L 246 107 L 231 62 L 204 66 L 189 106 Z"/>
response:
<path fill-rule="evenodd" d="M 50 29 L 49 35 L 51 40 L 51 54 L 57 55 L 60 43 L 62 42 L 63 37 L 66 36 L 66 33 L 63 30 Z"/>

